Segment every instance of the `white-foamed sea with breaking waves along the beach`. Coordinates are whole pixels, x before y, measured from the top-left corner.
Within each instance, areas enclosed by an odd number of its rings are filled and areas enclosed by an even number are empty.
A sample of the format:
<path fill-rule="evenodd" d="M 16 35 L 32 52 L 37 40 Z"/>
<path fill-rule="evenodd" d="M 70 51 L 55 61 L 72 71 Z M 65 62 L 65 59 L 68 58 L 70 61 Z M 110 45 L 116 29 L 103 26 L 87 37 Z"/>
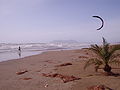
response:
<path fill-rule="evenodd" d="M 87 48 L 90 44 L 82 43 L 0 43 L 0 62 L 41 54 L 47 51 L 72 50 Z M 21 51 L 19 50 L 19 47 Z"/>

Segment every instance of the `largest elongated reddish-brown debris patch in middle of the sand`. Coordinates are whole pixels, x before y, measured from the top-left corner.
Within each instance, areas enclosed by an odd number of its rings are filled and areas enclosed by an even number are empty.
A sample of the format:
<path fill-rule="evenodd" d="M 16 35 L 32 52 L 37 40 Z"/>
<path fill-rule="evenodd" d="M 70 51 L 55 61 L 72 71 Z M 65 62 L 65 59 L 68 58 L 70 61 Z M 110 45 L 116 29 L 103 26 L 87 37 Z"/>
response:
<path fill-rule="evenodd" d="M 63 80 L 64 83 L 81 79 L 81 78 L 77 78 L 77 77 L 74 77 L 74 76 L 67 76 L 67 75 L 62 75 L 62 74 L 58 74 L 58 73 L 55 73 L 55 74 L 42 73 L 42 75 L 45 76 L 45 77 L 52 77 L 52 78 L 57 77 L 57 78 L 60 78 L 60 79 Z"/>

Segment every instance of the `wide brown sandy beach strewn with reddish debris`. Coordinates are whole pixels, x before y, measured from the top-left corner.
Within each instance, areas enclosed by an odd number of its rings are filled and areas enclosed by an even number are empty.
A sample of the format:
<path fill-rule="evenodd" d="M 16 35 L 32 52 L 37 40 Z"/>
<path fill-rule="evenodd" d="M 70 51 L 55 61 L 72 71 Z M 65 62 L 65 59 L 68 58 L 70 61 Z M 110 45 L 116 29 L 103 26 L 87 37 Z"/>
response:
<path fill-rule="evenodd" d="M 83 66 L 95 54 L 87 49 L 49 51 L 21 59 L 0 63 L 0 90 L 87 90 L 93 85 L 105 85 L 113 90 L 120 90 L 120 76 L 105 76 L 103 70 L 98 73 L 94 66 L 86 70 Z M 64 63 L 72 65 L 60 66 Z M 120 66 L 113 66 L 115 73 L 120 73 Z M 20 73 L 21 72 L 21 73 Z M 74 76 L 79 80 L 64 83 L 57 77 L 43 74 Z"/>

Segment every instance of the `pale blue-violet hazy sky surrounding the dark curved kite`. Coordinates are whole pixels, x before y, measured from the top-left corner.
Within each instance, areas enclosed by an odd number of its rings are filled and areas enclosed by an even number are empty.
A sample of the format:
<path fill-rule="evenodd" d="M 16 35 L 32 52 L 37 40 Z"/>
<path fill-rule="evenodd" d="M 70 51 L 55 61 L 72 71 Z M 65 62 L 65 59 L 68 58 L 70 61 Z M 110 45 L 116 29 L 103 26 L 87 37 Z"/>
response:
<path fill-rule="evenodd" d="M 0 43 L 120 42 L 119 28 L 120 0 L 0 0 Z"/>

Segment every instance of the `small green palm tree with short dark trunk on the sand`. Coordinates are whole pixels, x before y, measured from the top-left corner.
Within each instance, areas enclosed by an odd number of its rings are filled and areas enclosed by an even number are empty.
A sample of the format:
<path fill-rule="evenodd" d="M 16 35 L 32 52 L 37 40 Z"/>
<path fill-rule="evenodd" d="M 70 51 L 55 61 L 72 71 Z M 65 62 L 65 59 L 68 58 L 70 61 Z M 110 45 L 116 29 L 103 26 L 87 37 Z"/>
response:
<path fill-rule="evenodd" d="M 90 50 L 92 50 L 96 55 L 98 55 L 98 58 L 92 58 L 88 60 L 85 63 L 84 69 L 86 69 L 88 66 L 94 64 L 95 66 L 104 65 L 104 71 L 110 72 L 111 67 L 109 66 L 109 63 L 113 64 L 120 64 L 120 61 L 118 59 L 115 59 L 117 56 L 114 55 L 114 53 L 117 50 L 120 50 L 120 45 L 114 45 L 110 46 L 109 43 L 107 43 L 106 39 L 103 37 L 103 45 L 98 46 L 97 44 L 91 45 Z"/>

